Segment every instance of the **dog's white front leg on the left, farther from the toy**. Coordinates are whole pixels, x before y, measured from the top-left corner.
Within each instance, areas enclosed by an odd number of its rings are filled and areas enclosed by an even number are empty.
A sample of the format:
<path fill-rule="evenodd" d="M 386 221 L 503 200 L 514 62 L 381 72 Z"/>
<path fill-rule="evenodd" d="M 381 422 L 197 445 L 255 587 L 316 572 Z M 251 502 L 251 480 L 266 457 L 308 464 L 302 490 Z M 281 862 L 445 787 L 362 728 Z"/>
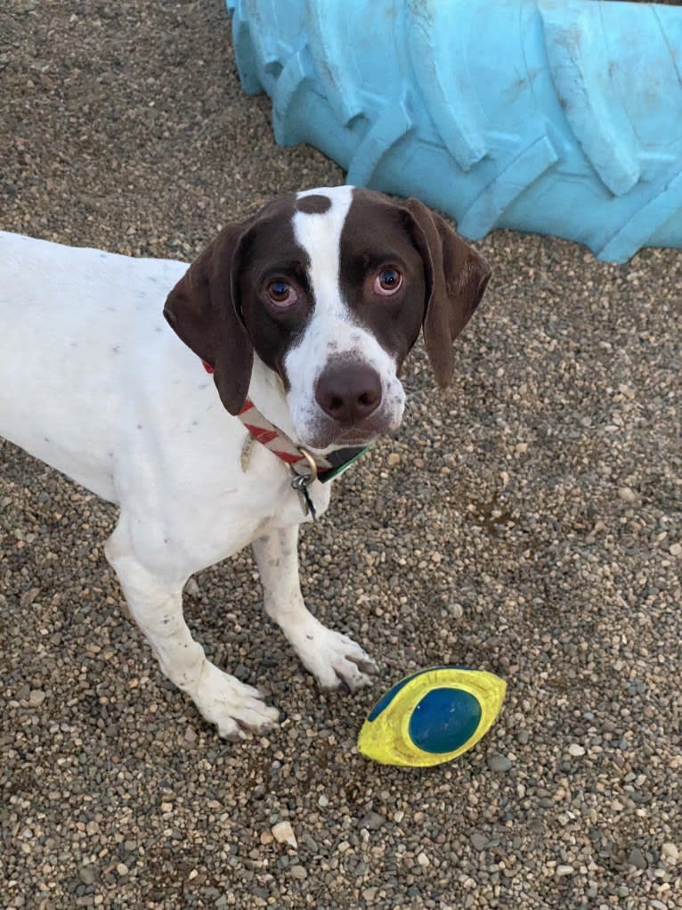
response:
<path fill-rule="evenodd" d="M 161 670 L 192 698 L 207 721 L 216 724 L 221 736 L 241 739 L 276 723 L 276 709 L 263 702 L 258 690 L 219 670 L 192 638 L 182 610 L 185 578 L 170 565 L 147 568 L 123 520 L 106 541 L 105 553 Z"/>

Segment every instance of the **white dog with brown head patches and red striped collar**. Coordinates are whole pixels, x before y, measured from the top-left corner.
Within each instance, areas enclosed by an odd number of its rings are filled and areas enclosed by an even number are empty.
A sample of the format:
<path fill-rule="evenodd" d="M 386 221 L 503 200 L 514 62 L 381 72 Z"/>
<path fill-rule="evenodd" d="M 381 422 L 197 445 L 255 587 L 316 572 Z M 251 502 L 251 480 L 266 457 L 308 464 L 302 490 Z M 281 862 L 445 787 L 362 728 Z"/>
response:
<path fill-rule="evenodd" d="M 397 430 L 420 333 L 450 382 L 486 261 L 416 199 L 347 186 L 277 199 L 189 268 L 15 234 L 0 248 L 0 433 L 119 506 L 105 555 L 162 672 L 227 739 L 276 723 L 183 617 L 190 576 L 250 543 L 307 670 L 370 682 L 366 652 L 306 609 L 298 526 Z"/>

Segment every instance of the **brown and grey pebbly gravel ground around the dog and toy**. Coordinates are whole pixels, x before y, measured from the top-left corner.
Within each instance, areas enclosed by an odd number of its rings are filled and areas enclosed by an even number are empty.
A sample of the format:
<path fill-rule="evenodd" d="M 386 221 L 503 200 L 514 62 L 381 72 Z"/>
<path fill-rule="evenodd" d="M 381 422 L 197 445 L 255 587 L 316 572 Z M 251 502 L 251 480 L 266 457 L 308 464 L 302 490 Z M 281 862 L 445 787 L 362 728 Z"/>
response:
<path fill-rule="evenodd" d="M 0 227 L 191 258 L 343 180 L 275 146 L 218 0 L 5 0 L 0 36 Z M 307 600 L 376 656 L 375 690 L 316 691 L 249 554 L 186 598 L 207 652 L 286 709 L 266 739 L 219 741 L 157 672 L 105 562 L 115 511 L 0 443 L 3 908 L 682 905 L 682 254 L 480 248 L 455 387 L 419 350 L 403 430 L 304 535 Z M 437 662 L 506 678 L 491 732 L 430 771 L 367 763 L 378 693 Z"/>

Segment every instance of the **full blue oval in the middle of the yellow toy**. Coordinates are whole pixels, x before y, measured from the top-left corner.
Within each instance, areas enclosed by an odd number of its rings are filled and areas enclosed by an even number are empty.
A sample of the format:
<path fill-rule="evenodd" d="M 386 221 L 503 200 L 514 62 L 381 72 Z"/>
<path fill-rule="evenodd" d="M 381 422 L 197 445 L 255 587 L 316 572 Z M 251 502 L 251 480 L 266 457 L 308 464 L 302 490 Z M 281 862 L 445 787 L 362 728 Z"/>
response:
<path fill-rule="evenodd" d="M 424 752 L 454 752 L 476 732 L 481 706 L 462 689 L 432 689 L 416 705 L 409 736 Z"/>

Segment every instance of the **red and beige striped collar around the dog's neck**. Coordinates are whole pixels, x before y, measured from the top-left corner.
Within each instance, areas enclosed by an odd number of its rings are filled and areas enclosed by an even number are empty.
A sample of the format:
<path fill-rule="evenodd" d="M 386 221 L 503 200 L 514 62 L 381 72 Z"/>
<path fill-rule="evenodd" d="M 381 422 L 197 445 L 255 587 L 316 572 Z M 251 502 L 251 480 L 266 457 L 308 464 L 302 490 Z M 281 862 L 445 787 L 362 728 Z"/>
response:
<path fill-rule="evenodd" d="M 201 362 L 207 373 L 213 373 L 213 367 L 206 363 L 206 360 Z M 333 480 L 369 448 L 349 446 L 345 449 L 336 449 L 328 455 L 313 454 L 303 446 L 297 446 L 286 433 L 278 430 L 274 423 L 261 414 L 251 399 L 246 399 L 237 417 L 257 442 L 289 465 L 296 474 L 306 477 L 306 484 L 312 483 L 313 480 L 321 480 L 323 483 Z"/>

